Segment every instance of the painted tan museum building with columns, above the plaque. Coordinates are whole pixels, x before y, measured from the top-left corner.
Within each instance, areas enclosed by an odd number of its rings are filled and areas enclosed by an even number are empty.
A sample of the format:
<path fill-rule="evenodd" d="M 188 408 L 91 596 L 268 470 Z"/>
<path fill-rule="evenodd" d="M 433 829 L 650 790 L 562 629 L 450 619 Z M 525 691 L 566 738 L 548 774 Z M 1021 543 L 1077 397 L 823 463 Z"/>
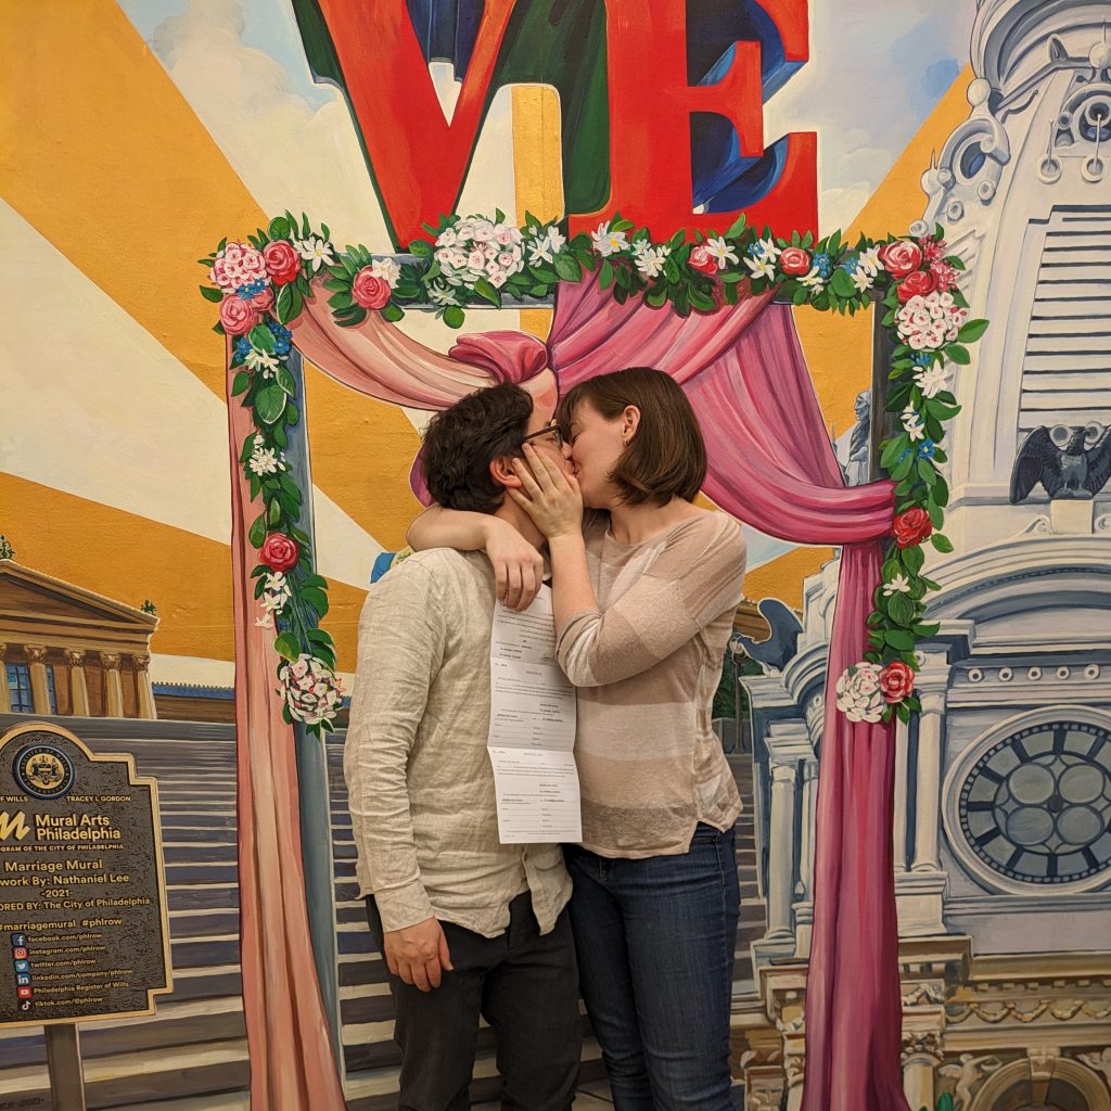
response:
<path fill-rule="evenodd" d="M 152 613 L 0 559 L 0 713 L 157 718 L 157 628 Z"/>

